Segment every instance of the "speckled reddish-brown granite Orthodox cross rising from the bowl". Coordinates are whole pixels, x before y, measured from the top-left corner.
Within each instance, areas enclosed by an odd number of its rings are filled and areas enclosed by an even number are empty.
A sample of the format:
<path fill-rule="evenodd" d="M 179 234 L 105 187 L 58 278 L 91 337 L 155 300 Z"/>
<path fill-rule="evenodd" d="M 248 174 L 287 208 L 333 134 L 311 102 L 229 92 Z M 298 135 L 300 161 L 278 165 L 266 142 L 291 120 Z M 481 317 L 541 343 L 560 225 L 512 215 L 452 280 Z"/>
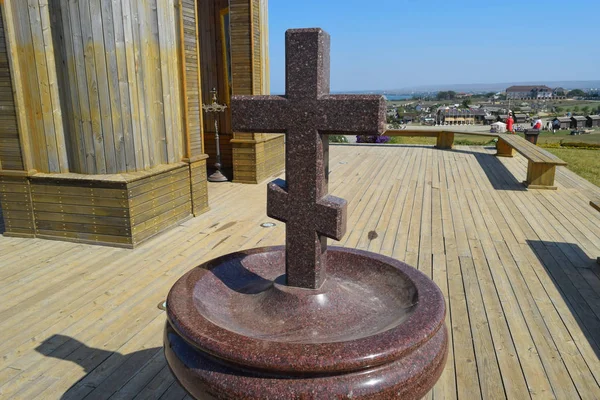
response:
<path fill-rule="evenodd" d="M 306 289 L 325 280 L 327 238 L 346 233 L 346 201 L 327 195 L 326 135 L 373 135 L 385 126 L 382 96 L 329 94 L 329 44 L 321 29 L 287 31 L 286 95 L 231 101 L 234 132 L 286 134 L 286 180 L 269 184 L 267 214 L 286 223 L 287 285 Z"/>

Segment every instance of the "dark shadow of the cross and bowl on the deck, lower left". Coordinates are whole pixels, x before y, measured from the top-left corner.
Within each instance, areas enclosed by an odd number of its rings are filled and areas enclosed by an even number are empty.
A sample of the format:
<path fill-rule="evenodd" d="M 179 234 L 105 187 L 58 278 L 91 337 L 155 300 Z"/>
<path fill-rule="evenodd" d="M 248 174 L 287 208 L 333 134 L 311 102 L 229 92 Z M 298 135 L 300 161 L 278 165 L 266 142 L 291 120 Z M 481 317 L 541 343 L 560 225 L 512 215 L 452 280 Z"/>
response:
<path fill-rule="evenodd" d="M 91 394 L 93 398 L 108 399 L 119 394 L 130 394 L 134 397 L 142 389 L 135 393 L 128 393 L 128 384 L 130 387 L 144 388 L 150 382 L 161 387 L 160 390 L 166 391 L 175 383 L 170 371 L 163 371 L 167 368 L 162 347 L 136 351 L 130 354 L 121 354 L 118 352 L 107 351 L 88 347 L 77 339 L 64 335 L 53 335 L 44 340 L 35 349 L 38 353 L 46 356 L 70 361 L 79 365 L 85 372 L 85 376 L 74 382 L 73 385 L 65 391 L 61 399 L 82 399 Z M 158 380 L 159 371 L 167 377 L 164 385 Z M 64 378 L 63 378 L 64 379 Z M 144 381 L 144 379 L 147 381 Z M 161 377 L 160 379 L 165 379 Z M 181 393 L 181 398 L 185 397 L 185 391 L 177 388 L 176 393 Z M 122 390 L 123 393 L 119 391 Z M 156 393 L 153 393 L 156 394 Z M 160 394 L 157 396 L 160 397 Z"/>

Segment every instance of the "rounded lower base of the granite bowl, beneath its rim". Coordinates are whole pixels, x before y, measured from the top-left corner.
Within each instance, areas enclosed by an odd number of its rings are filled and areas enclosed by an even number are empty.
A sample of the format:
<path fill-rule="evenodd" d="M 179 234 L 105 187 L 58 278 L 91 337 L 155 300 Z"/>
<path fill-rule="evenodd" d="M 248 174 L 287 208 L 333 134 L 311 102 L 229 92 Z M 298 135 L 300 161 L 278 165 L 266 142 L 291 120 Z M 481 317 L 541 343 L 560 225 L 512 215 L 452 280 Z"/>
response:
<path fill-rule="evenodd" d="M 437 382 L 448 353 L 443 327 L 402 360 L 329 376 L 275 374 L 218 360 L 191 346 L 167 323 L 165 356 L 180 384 L 196 399 L 420 399 Z M 425 362 L 426 361 L 426 362 Z"/>

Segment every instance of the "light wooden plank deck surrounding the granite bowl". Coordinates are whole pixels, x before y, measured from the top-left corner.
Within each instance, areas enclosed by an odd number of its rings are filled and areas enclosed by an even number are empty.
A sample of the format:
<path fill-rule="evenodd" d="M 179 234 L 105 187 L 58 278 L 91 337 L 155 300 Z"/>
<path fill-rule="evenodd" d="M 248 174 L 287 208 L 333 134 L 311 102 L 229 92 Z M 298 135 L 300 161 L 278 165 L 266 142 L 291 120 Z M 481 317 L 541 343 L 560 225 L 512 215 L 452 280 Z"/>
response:
<path fill-rule="evenodd" d="M 343 245 L 444 292 L 450 354 L 430 398 L 599 399 L 600 189 L 559 167 L 556 192 L 525 190 L 526 160 L 493 152 L 333 146 Z M 157 304 L 202 261 L 283 243 L 283 224 L 259 226 L 265 187 L 211 184 L 210 212 L 136 250 L 0 236 L 0 398 L 185 398 Z"/>

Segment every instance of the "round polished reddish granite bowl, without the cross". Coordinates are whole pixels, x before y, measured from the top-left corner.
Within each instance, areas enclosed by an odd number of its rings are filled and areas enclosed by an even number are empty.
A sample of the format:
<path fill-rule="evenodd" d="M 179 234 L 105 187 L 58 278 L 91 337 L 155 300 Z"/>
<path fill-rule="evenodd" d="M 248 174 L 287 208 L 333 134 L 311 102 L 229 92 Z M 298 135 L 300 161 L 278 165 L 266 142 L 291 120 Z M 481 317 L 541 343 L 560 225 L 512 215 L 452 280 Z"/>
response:
<path fill-rule="evenodd" d="M 198 399 L 418 399 L 448 350 L 435 283 L 339 247 L 317 290 L 285 285 L 284 247 L 209 261 L 173 286 L 167 316 L 167 362 Z"/>

